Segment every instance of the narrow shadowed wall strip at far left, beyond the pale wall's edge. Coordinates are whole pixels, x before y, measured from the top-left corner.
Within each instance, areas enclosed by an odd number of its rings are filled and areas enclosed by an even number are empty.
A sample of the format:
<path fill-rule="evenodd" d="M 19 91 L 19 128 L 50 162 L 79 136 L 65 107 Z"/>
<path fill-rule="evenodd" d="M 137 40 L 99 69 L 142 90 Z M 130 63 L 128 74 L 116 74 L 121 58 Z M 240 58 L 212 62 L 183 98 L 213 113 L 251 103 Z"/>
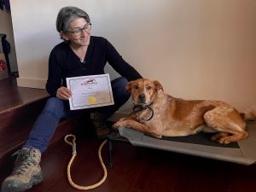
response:
<path fill-rule="evenodd" d="M 6 11 L 5 9 L 0 9 L 0 33 L 6 34 L 6 39 L 10 44 L 10 53 L 9 53 L 9 65 L 11 68 L 11 72 L 17 72 L 17 61 L 15 54 L 15 40 L 13 34 L 13 26 L 11 13 Z"/>

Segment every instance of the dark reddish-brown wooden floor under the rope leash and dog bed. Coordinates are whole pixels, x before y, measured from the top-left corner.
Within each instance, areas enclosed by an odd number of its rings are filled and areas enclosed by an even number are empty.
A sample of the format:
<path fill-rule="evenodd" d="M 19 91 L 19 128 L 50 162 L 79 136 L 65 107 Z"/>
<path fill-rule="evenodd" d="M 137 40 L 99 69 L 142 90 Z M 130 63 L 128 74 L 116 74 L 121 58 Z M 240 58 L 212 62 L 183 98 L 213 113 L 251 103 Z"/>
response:
<path fill-rule="evenodd" d="M 0 81 L 0 94 L 2 88 Z M 11 92 L 7 89 L 9 88 L 6 86 L 6 93 Z M 26 95 L 30 95 L 29 91 L 26 90 Z M 5 96 L 9 97 L 8 105 L 11 105 L 12 97 L 15 97 L 15 102 L 19 102 L 13 94 Z M 5 101 L 0 100 L 1 108 L 6 107 Z M 102 140 L 96 139 L 94 131 L 86 123 L 81 125 L 76 135 L 78 156 L 73 162 L 73 181 L 81 185 L 96 183 L 103 175 L 97 157 Z M 43 154 L 41 163 L 44 182 L 28 191 L 79 191 L 73 189 L 67 181 L 66 169 L 71 156 L 72 148 L 62 139 L 51 145 Z M 102 156 L 108 166 L 108 145 L 102 149 Z M 5 170 L 0 170 L 0 175 L 3 178 L 9 172 L 11 168 L 6 167 Z M 107 180 L 100 187 L 90 191 L 255 192 L 256 165 L 241 166 L 152 148 L 134 147 L 130 143 L 115 143 L 113 167 L 108 167 Z"/>

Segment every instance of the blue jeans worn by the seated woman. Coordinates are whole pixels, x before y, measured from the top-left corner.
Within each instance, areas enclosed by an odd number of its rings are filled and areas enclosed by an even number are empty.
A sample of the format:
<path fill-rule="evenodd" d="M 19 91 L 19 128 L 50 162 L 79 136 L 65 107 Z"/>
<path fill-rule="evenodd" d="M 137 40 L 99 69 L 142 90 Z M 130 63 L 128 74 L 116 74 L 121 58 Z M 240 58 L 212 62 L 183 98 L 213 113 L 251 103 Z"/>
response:
<path fill-rule="evenodd" d="M 50 97 L 46 102 L 42 113 L 40 113 L 33 125 L 32 131 L 23 147 L 38 148 L 41 153 L 44 153 L 49 140 L 53 137 L 55 129 L 62 118 L 79 117 L 94 111 L 102 113 L 105 118 L 110 117 L 125 104 L 131 96 L 130 93 L 125 90 L 125 85 L 127 83 L 128 81 L 122 77 L 111 81 L 114 105 L 108 107 L 70 110 L 67 101 L 63 101 L 56 97 Z"/>

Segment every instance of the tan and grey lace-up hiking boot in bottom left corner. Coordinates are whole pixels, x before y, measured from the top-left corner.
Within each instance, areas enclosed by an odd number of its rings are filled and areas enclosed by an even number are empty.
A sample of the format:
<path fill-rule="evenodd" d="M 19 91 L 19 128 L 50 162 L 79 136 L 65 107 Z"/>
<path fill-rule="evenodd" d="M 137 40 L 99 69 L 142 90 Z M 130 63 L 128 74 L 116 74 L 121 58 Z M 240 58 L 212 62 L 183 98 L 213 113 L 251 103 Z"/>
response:
<path fill-rule="evenodd" d="M 36 148 L 22 148 L 15 152 L 15 168 L 2 183 L 2 192 L 21 191 L 31 189 L 33 185 L 41 183 L 43 176 L 39 166 L 41 152 Z M 13 154 L 13 155 L 15 155 Z"/>

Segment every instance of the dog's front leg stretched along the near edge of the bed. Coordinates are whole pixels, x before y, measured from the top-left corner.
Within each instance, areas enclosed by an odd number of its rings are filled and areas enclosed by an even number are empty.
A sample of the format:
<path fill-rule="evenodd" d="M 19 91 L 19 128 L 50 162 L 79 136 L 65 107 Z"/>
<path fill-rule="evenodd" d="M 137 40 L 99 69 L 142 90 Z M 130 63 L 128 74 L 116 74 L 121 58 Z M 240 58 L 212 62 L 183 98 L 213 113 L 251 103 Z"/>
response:
<path fill-rule="evenodd" d="M 147 132 L 154 137 L 161 137 L 160 133 L 155 132 L 148 125 L 141 124 L 133 119 L 122 119 L 116 122 L 115 124 L 113 124 L 113 128 L 115 129 L 119 128 L 120 126 L 129 127 L 137 131 Z"/>

